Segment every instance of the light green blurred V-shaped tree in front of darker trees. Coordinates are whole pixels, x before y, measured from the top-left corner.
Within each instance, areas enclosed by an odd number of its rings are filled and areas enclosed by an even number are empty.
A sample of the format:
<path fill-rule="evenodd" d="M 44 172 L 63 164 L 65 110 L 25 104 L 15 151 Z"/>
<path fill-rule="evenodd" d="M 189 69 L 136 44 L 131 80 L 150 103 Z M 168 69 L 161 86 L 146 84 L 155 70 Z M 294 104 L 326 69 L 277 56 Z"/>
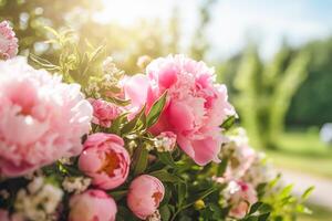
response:
<path fill-rule="evenodd" d="M 264 65 L 255 48 L 243 55 L 236 78 L 235 102 L 258 147 L 277 146 L 291 99 L 307 77 L 309 54 L 287 46 Z"/>

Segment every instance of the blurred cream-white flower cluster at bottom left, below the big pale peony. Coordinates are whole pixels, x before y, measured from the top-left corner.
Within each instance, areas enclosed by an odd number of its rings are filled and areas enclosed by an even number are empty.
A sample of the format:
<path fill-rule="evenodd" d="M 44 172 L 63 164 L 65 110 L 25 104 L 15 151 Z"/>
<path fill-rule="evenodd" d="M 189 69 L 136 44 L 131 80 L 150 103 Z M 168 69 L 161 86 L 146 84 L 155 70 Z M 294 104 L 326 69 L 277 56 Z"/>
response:
<path fill-rule="evenodd" d="M 60 188 L 35 177 L 27 187 L 19 190 L 14 202 L 15 217 L 22 220 L 54 220 L 54 212 L 62 199 Z"/>

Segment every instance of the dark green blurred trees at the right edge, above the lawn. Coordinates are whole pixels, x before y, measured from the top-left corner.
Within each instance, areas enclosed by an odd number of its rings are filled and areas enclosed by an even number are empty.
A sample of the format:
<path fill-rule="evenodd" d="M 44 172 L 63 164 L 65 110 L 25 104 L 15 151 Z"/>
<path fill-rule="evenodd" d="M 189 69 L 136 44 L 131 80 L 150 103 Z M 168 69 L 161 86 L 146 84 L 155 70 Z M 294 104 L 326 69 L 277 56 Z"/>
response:
<path fill-rule="evenodd" d="M 309 51 L 308 78 L 293 96 L 287 123 L 298 126 L 321 126 L 332 122 L 332 39 L 313 41 L 299 51 Z"/>

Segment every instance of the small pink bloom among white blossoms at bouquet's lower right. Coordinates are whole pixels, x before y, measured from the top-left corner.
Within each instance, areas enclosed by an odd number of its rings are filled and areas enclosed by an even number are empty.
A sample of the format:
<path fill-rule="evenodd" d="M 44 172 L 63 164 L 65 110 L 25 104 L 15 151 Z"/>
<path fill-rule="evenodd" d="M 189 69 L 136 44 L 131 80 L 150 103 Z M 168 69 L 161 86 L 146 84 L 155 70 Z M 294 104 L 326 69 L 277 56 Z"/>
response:
<path fill-rule="evenodd" d="M 235 183 L 235 191 L 230 192 L 230 211 L 229 215 L 236 219 L 242 219 L 251 204 L 257 202 L 257 192 L 250 183 L 242 181 L 231 181 Z"/>

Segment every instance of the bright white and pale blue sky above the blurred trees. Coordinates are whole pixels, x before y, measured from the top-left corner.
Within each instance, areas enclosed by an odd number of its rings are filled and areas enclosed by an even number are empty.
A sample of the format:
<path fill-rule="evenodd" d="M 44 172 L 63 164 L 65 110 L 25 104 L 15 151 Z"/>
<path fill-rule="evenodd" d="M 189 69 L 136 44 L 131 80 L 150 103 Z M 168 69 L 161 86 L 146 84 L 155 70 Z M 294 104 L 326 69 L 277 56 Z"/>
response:
<path fill-rule="evenodd" d="M 184 42 L 197 24 L 197 9 L 204 0 L 103 0 L 102 22 L 131 25 L 137 19 L 167 20 L 174 7 L 180 11 Z M 243 49 L 248 40 L 259 43 L 261 56 L 269 59 L 282 40 L 294 46 L 332 35 L 331 0 L 219 0 L 212 8 L 206 33 L 212 56 L 229 57 Z"/>

